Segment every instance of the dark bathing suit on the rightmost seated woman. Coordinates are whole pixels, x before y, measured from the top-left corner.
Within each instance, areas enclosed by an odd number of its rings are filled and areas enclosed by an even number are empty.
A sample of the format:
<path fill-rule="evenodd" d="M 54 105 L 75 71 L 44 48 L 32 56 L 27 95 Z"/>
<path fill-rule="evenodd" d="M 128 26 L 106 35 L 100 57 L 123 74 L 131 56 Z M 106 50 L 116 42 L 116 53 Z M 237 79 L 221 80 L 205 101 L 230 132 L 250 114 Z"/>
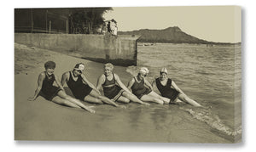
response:
<path fill-rule="evenodd" d="M 177 92 L 176 89 L 173 89 L 171 87 L 172 79 L 168 78 L 166 86 L 163 86 L 160 83 L 160 78 L 156 78 L 155 83 L 156 83 L 156 87 L 158 88 L 158 90 L 160 91 L 160 93 L 163 97 L 166 97 L 167 99 L 171 99 L 172 102 L 176 101 L 179 92 Z"/>

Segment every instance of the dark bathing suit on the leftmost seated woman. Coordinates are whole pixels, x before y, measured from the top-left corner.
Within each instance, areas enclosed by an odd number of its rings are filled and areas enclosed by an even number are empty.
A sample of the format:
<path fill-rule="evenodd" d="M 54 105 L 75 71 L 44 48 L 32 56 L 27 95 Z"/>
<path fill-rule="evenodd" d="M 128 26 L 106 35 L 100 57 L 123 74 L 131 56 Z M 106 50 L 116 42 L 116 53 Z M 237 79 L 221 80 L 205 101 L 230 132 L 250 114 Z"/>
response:
<path fill-rule="evenodd" d="M 60 87 L 53 86 L 54 82 L 54 74 L 48 76 L 48 74 L 45 72 L 45 78 L 43 81 L 41 92 L 43 93 L 44 98 L 50 101 L 57 95 L 59 91 L 61 91 Z"/>

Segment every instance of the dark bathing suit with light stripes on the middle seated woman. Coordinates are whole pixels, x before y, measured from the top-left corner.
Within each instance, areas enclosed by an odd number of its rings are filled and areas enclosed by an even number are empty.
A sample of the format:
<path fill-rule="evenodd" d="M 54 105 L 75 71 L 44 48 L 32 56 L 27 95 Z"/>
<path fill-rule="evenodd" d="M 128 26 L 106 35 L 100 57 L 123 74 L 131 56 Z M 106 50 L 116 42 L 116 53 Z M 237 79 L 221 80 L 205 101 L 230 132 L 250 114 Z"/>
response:
<path fill-rule="evenodd" d="M 115 78 L 113 75 L 113 79 L 111 81 L 108 80 L 107 76 L 105 76 L 105 82 L 102 84 L 103 92 L 108 99 L 112 99 L 116 101 L 121 97 L 121 95 L 125 92 L 121 87 L 115 84 Z M 114 84 L 114 85 L 113 85 Z M 112 87 L 108 87 L 109 85 L 113 85 Z"/>

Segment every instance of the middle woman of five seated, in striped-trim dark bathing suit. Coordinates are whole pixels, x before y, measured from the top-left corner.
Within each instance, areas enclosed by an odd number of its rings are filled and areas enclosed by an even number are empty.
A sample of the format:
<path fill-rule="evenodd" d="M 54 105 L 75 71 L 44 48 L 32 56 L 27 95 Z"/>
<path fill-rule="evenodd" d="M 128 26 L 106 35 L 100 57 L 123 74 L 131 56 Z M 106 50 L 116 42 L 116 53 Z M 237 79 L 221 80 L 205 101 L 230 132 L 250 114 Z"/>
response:
<path fill-rule="evenodd" d="M 108 99 L 129 103 L 130 100 L 139 104 L 149 105 L 140 99 L 137 99 L 127 87 L 120 81 L 119 76 L 113 73 L 113 65 L 108 63 L 104 65 L 104 74 L 98 78 L 96 88 L 103 87 L 103 92 Z"/>

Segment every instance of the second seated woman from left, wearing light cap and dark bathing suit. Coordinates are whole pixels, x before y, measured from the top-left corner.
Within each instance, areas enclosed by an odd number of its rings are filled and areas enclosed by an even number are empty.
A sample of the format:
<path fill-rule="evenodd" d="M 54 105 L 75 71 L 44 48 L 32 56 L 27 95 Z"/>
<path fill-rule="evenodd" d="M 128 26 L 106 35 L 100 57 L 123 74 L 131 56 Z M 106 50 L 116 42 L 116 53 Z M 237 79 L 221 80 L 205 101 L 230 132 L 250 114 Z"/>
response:
<path fill-rule="evenodd" d="M 112 104 L 116 107 L 125 108 L 123 105 L 114 103 L 112 100 L 101 95 L 101 93 L 90 83 L 83 74 L 84 64 L 75 65 L 72 71 L 65 72 L 61 77 L 61 85 L 67 82 L 75 98 L 88 101 L 93 104 Z"/>

